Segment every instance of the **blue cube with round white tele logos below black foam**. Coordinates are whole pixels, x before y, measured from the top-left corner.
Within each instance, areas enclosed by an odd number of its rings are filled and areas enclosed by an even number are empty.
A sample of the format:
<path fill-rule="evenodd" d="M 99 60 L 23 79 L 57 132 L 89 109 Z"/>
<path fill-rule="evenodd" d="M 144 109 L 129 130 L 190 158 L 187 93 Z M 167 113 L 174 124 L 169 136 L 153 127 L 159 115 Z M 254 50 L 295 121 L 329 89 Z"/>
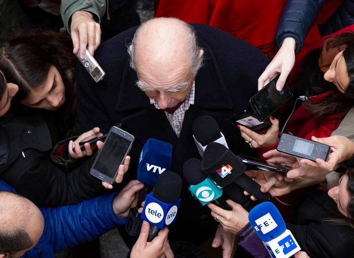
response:
<path fill-rule="evenodd" d="M 163 229 L 175 222 L 181 199 L 167 203 L 155 198 L 154 193 L 146 195 L 145 205 L 141 218 L 151 225 Z"/>

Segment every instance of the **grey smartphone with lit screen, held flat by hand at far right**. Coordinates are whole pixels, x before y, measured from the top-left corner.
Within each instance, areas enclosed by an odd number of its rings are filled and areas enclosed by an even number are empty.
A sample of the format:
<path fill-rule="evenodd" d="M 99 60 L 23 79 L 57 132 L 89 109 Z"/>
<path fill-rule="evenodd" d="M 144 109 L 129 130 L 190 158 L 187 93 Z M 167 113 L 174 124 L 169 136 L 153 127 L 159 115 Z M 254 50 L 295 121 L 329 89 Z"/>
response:
<path fill-rule="evenodd" d="M 279 139 L 277 150 L 311 161 L 316 161 L 316 159 L 322 159 L 325 161 L 330 147 L 323 143 L 283 133 Z"/>

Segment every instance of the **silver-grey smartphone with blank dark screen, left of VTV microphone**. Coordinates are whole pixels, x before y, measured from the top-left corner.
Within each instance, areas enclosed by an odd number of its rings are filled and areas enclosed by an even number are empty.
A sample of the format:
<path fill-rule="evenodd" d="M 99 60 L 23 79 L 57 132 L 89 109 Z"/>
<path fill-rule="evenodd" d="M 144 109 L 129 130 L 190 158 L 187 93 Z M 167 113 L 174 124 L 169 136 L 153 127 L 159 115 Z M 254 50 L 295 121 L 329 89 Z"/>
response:
<path fill-rule="evenodd" d="M 90 174 L 112 184 L 117 176 L 118 168 L 124 162 L 133 142 L 134 136 L 112 126 L 91 167 Z"/>

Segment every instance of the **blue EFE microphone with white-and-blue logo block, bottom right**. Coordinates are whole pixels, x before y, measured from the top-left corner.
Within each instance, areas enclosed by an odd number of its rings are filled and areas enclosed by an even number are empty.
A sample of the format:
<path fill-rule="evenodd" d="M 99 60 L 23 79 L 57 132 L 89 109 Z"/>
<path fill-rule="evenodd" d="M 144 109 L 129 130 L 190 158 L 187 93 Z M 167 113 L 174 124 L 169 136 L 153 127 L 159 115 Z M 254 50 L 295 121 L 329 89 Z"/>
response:
<path fill-rule="evenodd" d="M 258 204 L 249 212 L 248 220 L 272 257 L 289 258 L 301 250 L 272 202 Z"/>

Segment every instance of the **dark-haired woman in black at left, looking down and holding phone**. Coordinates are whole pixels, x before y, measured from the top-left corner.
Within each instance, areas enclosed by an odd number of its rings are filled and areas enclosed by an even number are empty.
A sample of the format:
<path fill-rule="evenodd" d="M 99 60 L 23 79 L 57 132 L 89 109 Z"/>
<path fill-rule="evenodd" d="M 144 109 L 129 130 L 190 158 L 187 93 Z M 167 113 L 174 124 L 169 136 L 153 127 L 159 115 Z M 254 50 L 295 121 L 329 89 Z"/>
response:
<path fill-rule="evenodd" d="M 0 45 L 0 70 L 5 82 L 18 86 L 14 99 L 21 104 L 0 118 L 0 179 L 43 207 L 78 203 L 113 188 L 90 174 L 95 157 L 75 167 L 69 166 L 72 160 L 62 159 L 65 168 L 51 161 L 52 142 L 71 134 L 75 122 L 77 60 L 71 48 L 65 34 L 38 30 L 10 35 Z M 72 140 L 55 149 L 67 149 L 71 158 L 78 158 L 78 142 L 94 135 L 99 136 L 99 128 L 76 138 L 75 151 Z M 90 144 L 80 153 L 93 154 Z M 129 157 L 115 182 L 122 180 L 128 165 Z"/>

